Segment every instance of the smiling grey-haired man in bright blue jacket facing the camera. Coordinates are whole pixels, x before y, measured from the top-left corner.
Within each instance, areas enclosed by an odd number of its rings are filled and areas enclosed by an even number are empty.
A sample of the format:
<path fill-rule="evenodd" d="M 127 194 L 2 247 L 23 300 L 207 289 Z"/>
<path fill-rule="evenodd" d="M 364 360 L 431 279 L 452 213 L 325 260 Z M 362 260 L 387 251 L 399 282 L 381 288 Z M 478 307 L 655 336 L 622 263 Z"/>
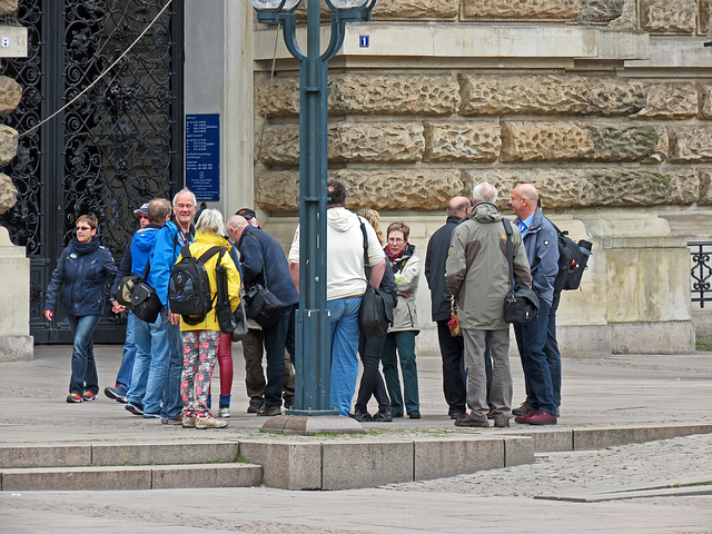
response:
<path fill-rule="evenodd" d="M 165 358 L 165 370 L 156 375 L 156 388 L 162 395 L 160 421 L 164 424 L 181 424 L 182 400 L 180 398 L 180 374 L 182 372 L 182 336 L 180 335 L 180 315 L 172 314 L 168 305 L 168 280 L 176 265 L 180 249 L 190 245 L 195 238 L 192 218 L 197 210 L 196 196 L 184 188 L 176 194 L 172 202 L 174 217 L 161 228 L 151 251 L 151 277 L 156 294 L 164 305 L 168 320 L 169 353 Z"/>

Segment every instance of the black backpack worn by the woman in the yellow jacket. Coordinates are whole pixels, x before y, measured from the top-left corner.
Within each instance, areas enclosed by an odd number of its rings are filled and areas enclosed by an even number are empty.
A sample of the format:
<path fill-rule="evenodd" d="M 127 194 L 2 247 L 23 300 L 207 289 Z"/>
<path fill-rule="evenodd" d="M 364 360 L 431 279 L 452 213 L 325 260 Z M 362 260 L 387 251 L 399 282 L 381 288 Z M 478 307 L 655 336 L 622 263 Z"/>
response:
<path fill-rule="evenodd" d="M 188 245 L 180 249 L 180 261 L 170 271 L 168 280 L 168 304 L 170 310 L 180 314 L 187 324 L 204 322 L 212 309 L 214 298 L 210 296 L 210 279 L 205 270 L 205 263 L 226 250 L 225 247 L 211 247 L 196 258 L 190 254 Z"/>

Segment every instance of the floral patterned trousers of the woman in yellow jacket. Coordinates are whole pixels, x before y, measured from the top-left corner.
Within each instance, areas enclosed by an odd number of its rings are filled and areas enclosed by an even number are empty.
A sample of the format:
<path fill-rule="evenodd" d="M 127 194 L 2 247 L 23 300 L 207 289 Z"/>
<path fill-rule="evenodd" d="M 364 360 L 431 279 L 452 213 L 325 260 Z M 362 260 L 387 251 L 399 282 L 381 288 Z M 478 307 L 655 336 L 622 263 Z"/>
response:
<path fill-rule="evenodd" d="M 217 358 L 220 333 L 216 330 L 185 330 L 182 333 L 182 376 L 180 396 L 182 415 L 208 415 L 210 377 Z"/>

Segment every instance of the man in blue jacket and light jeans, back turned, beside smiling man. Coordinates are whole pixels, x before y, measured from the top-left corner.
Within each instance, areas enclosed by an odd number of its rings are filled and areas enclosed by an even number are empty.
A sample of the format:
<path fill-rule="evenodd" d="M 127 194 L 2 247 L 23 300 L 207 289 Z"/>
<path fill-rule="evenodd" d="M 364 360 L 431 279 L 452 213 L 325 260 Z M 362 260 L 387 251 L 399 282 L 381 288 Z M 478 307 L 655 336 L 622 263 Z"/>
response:
<path fill-rule="evenodd" d="M 165 198 L 157 198 L 148 202 L 148 225 L 139 229 L 131 241 L 131 273 L 142 275 L 149 261 L 151 249 L 164 222 L 170 215 L 170 204 Z M 150 266 L 149 266 L 150 269 Z M 156 279 L 152 269 L 148 271 L 146 283 L 155 287 Z M 165 355 L 168 353 L 166 324 L 168 316 L 161 310 L 151 324 L 134 317 L 134 342 L 136 356 L 131 370 L 130 387 L 127 393 L 126 409 L 134 415 L 156 417 L 160 412 L 162 388 L 157 387 L 156 378 L 165 375 Z"/>

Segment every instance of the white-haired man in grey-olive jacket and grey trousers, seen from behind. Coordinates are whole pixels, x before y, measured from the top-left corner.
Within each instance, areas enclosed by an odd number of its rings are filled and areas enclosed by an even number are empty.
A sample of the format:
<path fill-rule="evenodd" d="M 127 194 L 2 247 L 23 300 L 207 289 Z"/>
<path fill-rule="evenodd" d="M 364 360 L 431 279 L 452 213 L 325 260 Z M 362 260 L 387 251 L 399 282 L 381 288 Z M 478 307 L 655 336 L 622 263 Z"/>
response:
<path fill-rule="evenodd" d="M 467 372 L 467 417 L 456 426 L 490 426 L 487 412 L 486 345 L 493 360 L 490 405 L 495 426 L 510 426 L 512 373 L 510 370 L 510 325 L 504 322 L 504 296 L 510 290 L 510 267 L 506 257 L 506 233 L 502 214 L 495 206 L 497 190 L 483 182 L 473 189 L 475 207 L 455 228 L 445 264 L 445 279 L 455 296 L 465 339 Z M 532 287 L 522 236 L 512 236 L 514 280 Z"/>

